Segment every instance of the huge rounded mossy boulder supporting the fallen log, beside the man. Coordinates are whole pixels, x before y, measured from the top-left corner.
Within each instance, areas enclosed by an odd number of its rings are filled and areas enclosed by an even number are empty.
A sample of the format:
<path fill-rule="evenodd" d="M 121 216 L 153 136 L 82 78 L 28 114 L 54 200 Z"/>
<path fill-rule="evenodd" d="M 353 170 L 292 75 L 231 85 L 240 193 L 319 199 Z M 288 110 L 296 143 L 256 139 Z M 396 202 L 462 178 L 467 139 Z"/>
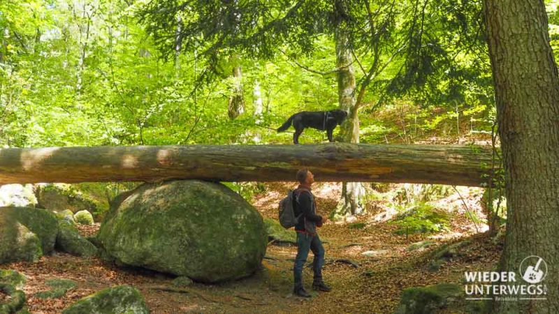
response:
<path fill-rule="evenodd" d="M 98 236 L 117 263 L 214 283 L 249 276 L 266 253 L 261 215 L 222 184 L 145 184 L 118 200 Z"/>

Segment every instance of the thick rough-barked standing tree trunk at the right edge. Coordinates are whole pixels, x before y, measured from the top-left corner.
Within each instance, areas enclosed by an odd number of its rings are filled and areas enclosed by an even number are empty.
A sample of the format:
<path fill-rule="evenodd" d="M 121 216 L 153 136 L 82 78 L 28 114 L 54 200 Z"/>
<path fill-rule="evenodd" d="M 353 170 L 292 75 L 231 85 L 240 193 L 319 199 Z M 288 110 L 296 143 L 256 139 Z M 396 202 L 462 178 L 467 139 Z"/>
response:
<path fill-rule="evenodd" d="M 546 9 L 542 0 L 486 0 L 485 14 L 507 196 L 500 268 L 524 283 L 525 257 L 549 266 L 546 300 L 493 301 L 493 311 L 559 313 L 559 78 Z"/>

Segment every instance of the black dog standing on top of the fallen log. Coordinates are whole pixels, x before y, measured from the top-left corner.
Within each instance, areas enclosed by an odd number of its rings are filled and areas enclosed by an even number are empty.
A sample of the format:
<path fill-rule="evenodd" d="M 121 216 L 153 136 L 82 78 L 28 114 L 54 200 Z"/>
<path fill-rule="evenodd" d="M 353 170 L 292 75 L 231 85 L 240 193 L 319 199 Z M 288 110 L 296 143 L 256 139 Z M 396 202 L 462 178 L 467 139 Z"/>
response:
<path fill-rule="evenodd" d="M 328 140 L 334 142 L 332 133 L 337 125 L 342 125 L 342 122 L 347 118 L 347 112 L 344 110 L 330 110 L 330 111 L 302 111 L 293 114 L 282 126 L 277 129 L 277 132 L 287 130 L 289 126 L 293 125 L 295 134 L 293 134 L 293 144 L 299 144 L 299 135 L 303 133 L 305 128 L 316 128 L 317 130 L 326 130 Z"/>

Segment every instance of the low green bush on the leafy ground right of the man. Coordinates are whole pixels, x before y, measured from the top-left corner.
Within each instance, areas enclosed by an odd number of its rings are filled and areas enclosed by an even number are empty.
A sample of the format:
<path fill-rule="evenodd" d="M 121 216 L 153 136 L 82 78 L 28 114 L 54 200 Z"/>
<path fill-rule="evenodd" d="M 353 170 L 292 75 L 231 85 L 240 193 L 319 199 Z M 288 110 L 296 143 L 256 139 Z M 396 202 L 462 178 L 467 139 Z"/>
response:
<path fill-rule="evenodd" d="M 398 225 L 396 234 L 430 233 L 449 229 L 449 214 L 429 204 L 419 203 L 412 207 L 400 208 L 400 211 L 391 222 Z"/>

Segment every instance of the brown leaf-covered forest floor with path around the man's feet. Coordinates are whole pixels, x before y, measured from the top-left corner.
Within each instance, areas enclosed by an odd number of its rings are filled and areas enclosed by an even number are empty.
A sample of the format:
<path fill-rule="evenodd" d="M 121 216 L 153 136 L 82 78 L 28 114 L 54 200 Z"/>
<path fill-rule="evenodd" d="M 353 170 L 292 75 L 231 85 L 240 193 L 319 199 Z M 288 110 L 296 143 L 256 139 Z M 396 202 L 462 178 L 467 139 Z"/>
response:
<path fill-rule="evenodd" d="M 266 184 L 266 193 L 254 197 L 254 206 L 264 217 L 277 217 L 277 203 L 293 184 Z M 317 184 L 319 214 L 328 216 L 340 197 L 341 184 Z M 479 195 L 460 190 L 472 211 L 479 211 Z M 460 283 L 464 271 L 486 271 L 495 267 L 500 245 L 483 233 L 477 233 L 467 218 L 463 201 L 454 193 L 442 200 L 442 206 L 453 212 L 450 230 L 437 234 L 396 235 L 395 225 L 387 223 L 390 213 L 386 200 L 367 203 L 368 214 L 354 223 L 328 221 L 319 229 L 326 249 L 324 279 L 331 292 L 311 292 L 311 299 L 294 297 L 293 259 L 296 246 L 270 244 L 263 267 L 253 276 L 217 285 L 194 283 L 181 292 L 165 291 L 173 277 L 153 271 L 122 269 L 97 258 L 83 259 L 64 253 L 42 257 L 39 262 L 17 262 L 4 265 L 27 276 L 27 306 L 31 313 L 60 313 L 78 299 L 113 285 L 133 285 L 144 295 L 152 313 L 393 313 L 402 290 L 406 287 L 435 283 Z M 479 213 L 478 213 L 479 214 Z M 387 216 L 388 215 L 388 216 Z M 94 234 L 99 225 L 82 226 L 82 234 Z M 429 271 L 430 252 L 445 243 L 472 239 L 463 246 L 462 257 Z M 410 244 L 430 239 L 434 246 L 408 251 Z M 375 251 L 366 256 L 365 251 Z M 309 256 L 307 265 L 312 260 Z M 353 264 L 349 264 L 351 262 Z M 310 291 L 312 270 L 305 267 L 305 286 Z M 68 278 L 78 286 L 60 299 L 38 299 L 36 292 L 49 290 L 45 280 Z"/>

